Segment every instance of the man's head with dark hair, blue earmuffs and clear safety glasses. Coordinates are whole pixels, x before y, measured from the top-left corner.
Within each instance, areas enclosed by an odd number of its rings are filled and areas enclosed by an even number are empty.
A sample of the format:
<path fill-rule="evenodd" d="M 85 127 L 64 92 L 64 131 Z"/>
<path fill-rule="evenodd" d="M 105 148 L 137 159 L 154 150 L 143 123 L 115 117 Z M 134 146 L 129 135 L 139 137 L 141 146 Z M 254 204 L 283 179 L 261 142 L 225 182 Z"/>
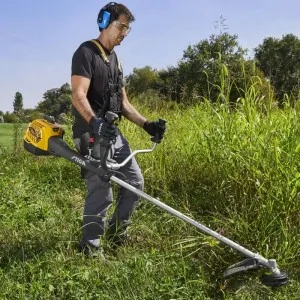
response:
<path fill-rule="evenodd" d="M 115 44 L 118 45 L 129 33 L 129 24 L 135 20 L 130 10 L 123 4 L 110 2 L 101 8 L 97 23 L 100 32 L 105 32 L 115 39 Z"/>

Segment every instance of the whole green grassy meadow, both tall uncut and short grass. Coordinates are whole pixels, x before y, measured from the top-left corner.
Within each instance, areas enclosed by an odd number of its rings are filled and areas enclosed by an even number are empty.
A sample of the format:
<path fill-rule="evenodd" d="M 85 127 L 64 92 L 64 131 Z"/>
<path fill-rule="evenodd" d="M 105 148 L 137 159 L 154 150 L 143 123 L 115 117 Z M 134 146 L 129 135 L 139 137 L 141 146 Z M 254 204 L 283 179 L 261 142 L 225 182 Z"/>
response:
<path fill-rule="evenodd" d="M 79 168 L 25 152 L 22 130 L 0 124 L 1 299 L 299 299 L 298 107 L 255 97 L 234 109 L 207 101 L 184 109 L 136 105 L 149 119 L 167 120 L 164 141 L 137 156 L 145 192 L 276 259 L 289 284 L 262 285 L 265 270 L 224 280 L 243 257 L 145 200 L 125 246 L 112 250 L 103 241 L 106 261 L 84 258 L 77 251 L 85 196 Z M 120 128 L 133 150 L 152 146 L 126 120 Z M 10 136 L 17 141 L 8 149 Z M 69 127 L 65 139 L 72 147 Z"/>

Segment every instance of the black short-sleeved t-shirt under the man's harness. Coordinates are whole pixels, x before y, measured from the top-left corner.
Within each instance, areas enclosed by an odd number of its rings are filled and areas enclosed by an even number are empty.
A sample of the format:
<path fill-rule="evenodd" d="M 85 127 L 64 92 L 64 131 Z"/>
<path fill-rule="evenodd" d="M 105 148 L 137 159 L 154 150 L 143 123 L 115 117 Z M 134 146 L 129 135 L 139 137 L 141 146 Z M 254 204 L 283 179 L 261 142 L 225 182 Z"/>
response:
<path fill-rule="evenodd" d="M 110 77 L 109 68 L 113 82 L 115 84 L 119 81 L 123 83 L 123 75 L 118 69 L 116 53 L 114 51 L 109 52 L 104 47 L 103 49 L 105 50 L 110 62 L 109 66 L 103 61 L 97 46 L 89 41 L 82 43 L 75 51 L 72 58 L 72 76 L 79 75 L 91 80 L 87 99 L 96 114 L 99 109 L 105 109 L 104 105 L 108 104 L 108 81 Z M 72 106 L 72 113 L 75 116 L 73 137 L 77 138 L 84 132 L 89 131 L 90 128 L 74 106 Z"/>

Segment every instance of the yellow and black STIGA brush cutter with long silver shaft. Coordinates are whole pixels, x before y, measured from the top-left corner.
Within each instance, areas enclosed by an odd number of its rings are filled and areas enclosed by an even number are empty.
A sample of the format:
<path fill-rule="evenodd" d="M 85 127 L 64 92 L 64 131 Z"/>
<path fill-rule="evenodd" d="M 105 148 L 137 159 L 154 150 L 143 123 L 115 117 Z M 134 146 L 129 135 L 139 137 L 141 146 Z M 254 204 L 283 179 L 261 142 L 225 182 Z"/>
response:
<path fill-rule="evenodd" d="M 112 112 L 107 112 L 105 118 L 109 123 L 114 123 L 115 120 L 118 119 L 118 116 Z M 161 122 L 161 124 L 164 124 L 165 121 L 159 120 L 159 122 Z M 153 147 L 151 149 L 133 151 L 131 155 L 128 156 L 122 163 L 118 164 L 111 159 L 107 159 L 111 147 L 111 143 L 109 141 L 102 141 L 101 147 L 99 142 L 99 151 L 101 152 L 101 158 L 100 160 L 97 160 L 90 156 L 83 156 L 78 152 L 72 150 L 64 142 L 63 135 L 63 128 L 59 124 L 55 123 L 53 118 L 44 116 L 43 119 L 36 119 L 28 125 L 24 136 L 24 148 L 34 155 L 54 155 L 57 157 L 63 157 L 86 170 L 94 172 L 102 180 L 113 181 L 118 185 L 130 190 L 131 192 L 139 195 L 140 197 L 148 200 L 154 205 L 160 207 L 161 209 L 168 211 L 170 214 L 195 226 L 196 228 L 216 238 L 222 243 L 225 243 L 232 249 L 242 253 L 244 256 L 247 257 L 243 261 L 238 262 L 227 268 L 223 273 L 224 278 L 227 278 L 233 274 L 245 272 L 247 270 L 265 267 L 268 270 L 268 272 L 261 277 L 261 282 L 264 285 L 276 287 L 288 283 L 287 274 L 279 270 L 275 259 L 264 258 L 258 253 L 254 253 L 244 248 L 236 242 L 198 223 L 192 218 L 147 195 L 143 191 L 138 190 L 137 188 L 131 186 L 130 184 L 115 176 L 118 173 L 120 173 L 117 170 L 124 166 L 134 155 L 138 153 L 152 152 L 157 145 L 157 143 L 155 142 L 155 137 L 151 139 L 154 142 Z"/>

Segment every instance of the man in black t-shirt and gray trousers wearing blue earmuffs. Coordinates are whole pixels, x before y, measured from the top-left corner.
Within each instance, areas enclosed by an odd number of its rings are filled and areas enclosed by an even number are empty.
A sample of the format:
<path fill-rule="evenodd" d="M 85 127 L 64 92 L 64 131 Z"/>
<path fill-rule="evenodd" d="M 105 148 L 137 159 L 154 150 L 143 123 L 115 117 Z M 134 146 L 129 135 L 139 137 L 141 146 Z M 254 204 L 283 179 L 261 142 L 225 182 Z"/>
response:
<path fill-rule="evenodd" d="M 134 16 L 129 9 L 115 2 L 104 6 L 97 18 L 100 34 L 97 39 L 84 42 L 72 58 L 72 104 L 75 122 L 73 138 L 78 151 L 89 154 L 89 146 L 95 137 L 113 141 L 112 159 L 122 162 L 131 153 L 127 140 L 116 128 L 105 120 L 105 113 L 113 111 L 120 117 L 143 128 L 160 142 L 165 126 L 157 121 L 149 122 L 128 101 L 120 63 L 114 47 L 120 45 L 130 31 L 129 24 Z M 144 179 L 141 170 L 132 158 L 120 170 L 126 181 L 142 190 Z M 112 204 L 110 182 L 104 182 L 91 173 L 85 172 L 87 186 L 83 215 L 83 237 L 80 249 L 86 254 L 102 256 L 100 237 L 105 233 L 105 217 Z M 116 209 L 108 222 L 107 237 L 119 244 L 126 237 L 126 228 L 138 203 L 139 197 L 119 187 Z"/>

